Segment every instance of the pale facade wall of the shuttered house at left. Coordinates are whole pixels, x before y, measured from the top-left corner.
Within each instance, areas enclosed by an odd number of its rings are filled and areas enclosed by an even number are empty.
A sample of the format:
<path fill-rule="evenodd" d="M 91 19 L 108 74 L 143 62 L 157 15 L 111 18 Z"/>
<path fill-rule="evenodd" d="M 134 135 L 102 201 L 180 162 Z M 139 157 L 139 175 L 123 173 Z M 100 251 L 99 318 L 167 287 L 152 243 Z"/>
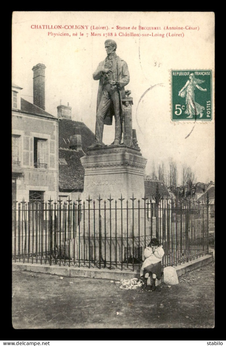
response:
<path fill-rule="evenodd" d="M 12 162 L 16 179 L 16 200 L 29 201 L 30 191 L 40 191 L 43 200 L 58 199 L 58 133 L 56 118 L 39 118 L 15 112 L 12 135 L 18 137 L 18 162 Z M 35 140 L 43 141 L 44 163 L 34 159 Z"/>

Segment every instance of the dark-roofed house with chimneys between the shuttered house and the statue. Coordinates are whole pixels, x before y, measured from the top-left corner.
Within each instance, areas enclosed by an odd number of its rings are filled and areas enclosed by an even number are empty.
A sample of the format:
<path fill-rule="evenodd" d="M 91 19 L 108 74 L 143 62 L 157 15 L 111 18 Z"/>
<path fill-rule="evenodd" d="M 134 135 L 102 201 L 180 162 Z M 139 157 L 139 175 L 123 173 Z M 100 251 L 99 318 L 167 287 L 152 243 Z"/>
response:
<path fill-rule="evenodd" d="M 71 119 L 71 107 L 57 107 L 59 118 L 59 197 L 75 201 L 83 192 L 84 168 L 80 157 L 95 139 L 94 133 L 82 122 Z"/>

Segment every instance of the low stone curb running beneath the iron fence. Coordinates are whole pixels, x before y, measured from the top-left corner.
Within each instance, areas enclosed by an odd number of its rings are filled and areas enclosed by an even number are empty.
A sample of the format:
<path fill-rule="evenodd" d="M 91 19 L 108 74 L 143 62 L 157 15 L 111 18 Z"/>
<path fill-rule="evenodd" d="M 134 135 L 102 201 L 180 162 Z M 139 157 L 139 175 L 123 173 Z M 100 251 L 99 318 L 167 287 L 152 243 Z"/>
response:
<path fill-rule="evenodd" d="M 185 262 L 183 264 L 174 266 L 177 272 L 177 276 L 181 276 L 185 273 L 190 272 L 196 268 L 202 267 L 213 261 L 212 255 L 205 255 L 203 257 L 196 258 L 193 261 Z M 59 265 L 47 265 L 47 264 L 30 264 L 30 263 L 20 263 L 13 262 L 12 263 L 12 271 L 22 271 L 27 270 L 31 272 L 39 272 L 39 273 L 50 273 L 61 276 L 71 276 L 71 277 L 90 277 L 96 279 L 111 279 L 111 280 L 120 280 L 120 279 L 132 279 L 133 277 L 139 278 L 139 270 L 134 272 L 127 270 L 109 270 L 107 268 L 97 269 L 97 268 L 74 268 L 74 267 L 65 267 Z"/>

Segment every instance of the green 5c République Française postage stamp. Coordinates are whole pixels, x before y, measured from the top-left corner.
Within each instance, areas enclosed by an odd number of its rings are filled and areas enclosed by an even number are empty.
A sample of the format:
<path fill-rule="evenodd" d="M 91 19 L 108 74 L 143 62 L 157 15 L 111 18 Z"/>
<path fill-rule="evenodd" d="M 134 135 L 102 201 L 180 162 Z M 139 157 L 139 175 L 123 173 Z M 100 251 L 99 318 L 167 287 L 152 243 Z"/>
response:
<path fill-rule="evenodd" d="M 171 119 L 212 120 L 212 70 L 171 71 Z"/>

